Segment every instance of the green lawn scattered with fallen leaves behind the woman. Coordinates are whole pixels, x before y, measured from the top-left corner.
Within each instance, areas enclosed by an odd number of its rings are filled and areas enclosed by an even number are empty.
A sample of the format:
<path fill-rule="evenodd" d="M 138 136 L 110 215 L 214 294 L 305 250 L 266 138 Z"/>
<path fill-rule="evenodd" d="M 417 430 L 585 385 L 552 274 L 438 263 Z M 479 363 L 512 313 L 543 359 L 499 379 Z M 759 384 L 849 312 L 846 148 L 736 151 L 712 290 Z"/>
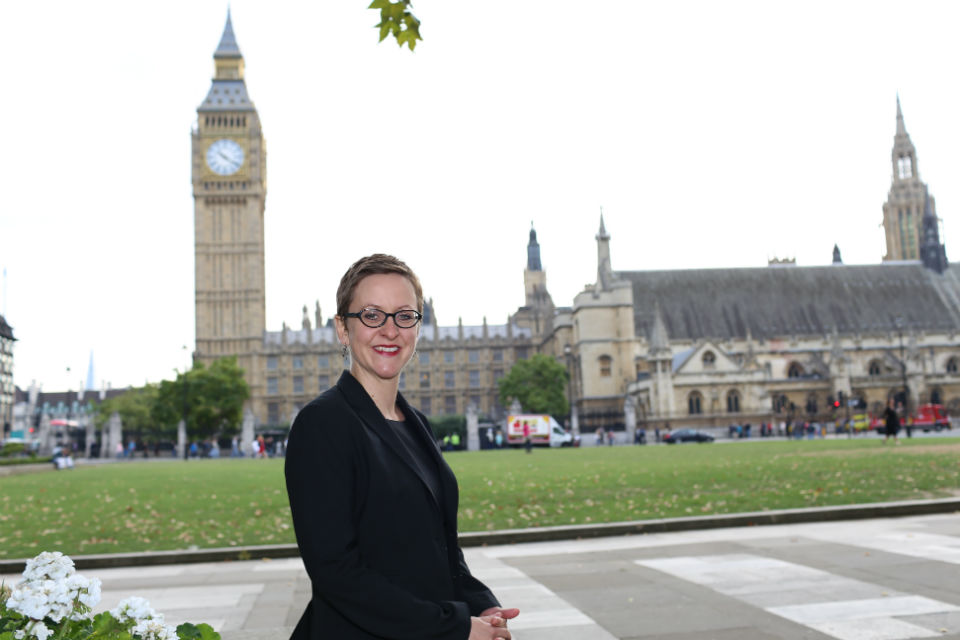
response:
<path fill-rule="evenodd" d="M 960 438 L 447 455 L 461 531 L 960 495 Z M 0 558 L 293 542 L 283 460 L 117 463 L 0 478 Z"/>

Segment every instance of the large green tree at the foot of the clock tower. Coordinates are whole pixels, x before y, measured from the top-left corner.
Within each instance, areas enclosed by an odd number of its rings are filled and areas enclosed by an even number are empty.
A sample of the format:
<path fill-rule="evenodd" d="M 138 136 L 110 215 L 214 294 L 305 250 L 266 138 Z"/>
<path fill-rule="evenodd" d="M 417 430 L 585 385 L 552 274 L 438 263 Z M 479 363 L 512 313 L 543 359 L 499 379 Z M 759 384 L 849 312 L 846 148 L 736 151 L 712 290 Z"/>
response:
<path fill-rule="evenodd" d="M 249 397 L 250 388 L 237 359 L 221 358 L 209 369 L 198 363 L 176 380 L 161 382 L 153 416 L 175 428 L 186 415 L 191 439 L 230 436 L 240 430 L 243 403 Z"/>

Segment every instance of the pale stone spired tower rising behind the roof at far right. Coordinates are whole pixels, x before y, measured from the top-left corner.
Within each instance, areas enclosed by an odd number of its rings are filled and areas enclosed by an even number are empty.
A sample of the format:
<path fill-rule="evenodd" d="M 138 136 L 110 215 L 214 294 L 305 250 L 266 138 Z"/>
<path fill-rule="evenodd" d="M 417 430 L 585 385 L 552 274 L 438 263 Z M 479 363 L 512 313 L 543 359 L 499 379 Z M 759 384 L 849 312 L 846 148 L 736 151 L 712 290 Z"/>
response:
<path fill-rule="evenodd" d="M 884 260 L 919 260 L 924 208 L 936 216 L 933 197 L 920 181 L 917 150 L 910 141 L 897 97 L 897 133 L 893 138 L 893 183 L 883 205 L 883 229 L 887 239 Z"/>

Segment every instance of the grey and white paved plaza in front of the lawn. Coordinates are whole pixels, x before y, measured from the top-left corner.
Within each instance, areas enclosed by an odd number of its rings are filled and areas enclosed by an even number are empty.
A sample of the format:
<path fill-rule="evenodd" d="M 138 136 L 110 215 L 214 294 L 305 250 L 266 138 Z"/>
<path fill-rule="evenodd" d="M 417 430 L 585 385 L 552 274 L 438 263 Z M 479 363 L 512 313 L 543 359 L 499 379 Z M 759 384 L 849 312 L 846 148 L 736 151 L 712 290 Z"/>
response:
<path fill-rule="evenodd" d="M 960 514 L 476 547 L 519 640 L 960 640 Z M 224 640 L 289 636 L 299 559 L 88 569 Z M 7 577 L 11 579 L 13 576 Z"/>

